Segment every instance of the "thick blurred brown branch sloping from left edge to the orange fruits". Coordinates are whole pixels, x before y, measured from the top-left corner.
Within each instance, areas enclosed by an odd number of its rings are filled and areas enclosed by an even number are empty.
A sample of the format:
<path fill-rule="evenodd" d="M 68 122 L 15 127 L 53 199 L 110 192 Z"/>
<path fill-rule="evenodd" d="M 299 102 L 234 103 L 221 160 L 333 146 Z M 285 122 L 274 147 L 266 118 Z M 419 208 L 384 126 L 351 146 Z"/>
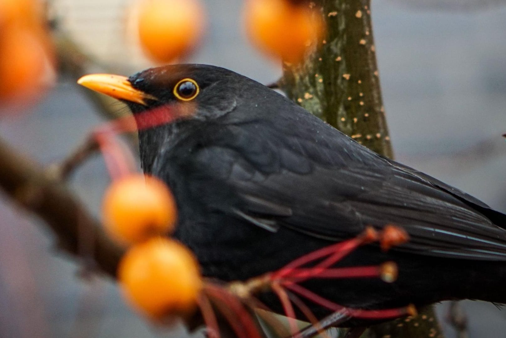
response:
<path fill-rule="evenodd" d="M 86 231 L 92 250 L 83 258 L 92 259 L 99 270 L 114 278 L 124 249 L 107 236 L 101 224 L 83 209 L 61 181 L 18 155 L 2 139 L 0 159 L 0 187 L 18 204 L 45 220 L 67 252 L 83 256 L 79 240 Z"/>

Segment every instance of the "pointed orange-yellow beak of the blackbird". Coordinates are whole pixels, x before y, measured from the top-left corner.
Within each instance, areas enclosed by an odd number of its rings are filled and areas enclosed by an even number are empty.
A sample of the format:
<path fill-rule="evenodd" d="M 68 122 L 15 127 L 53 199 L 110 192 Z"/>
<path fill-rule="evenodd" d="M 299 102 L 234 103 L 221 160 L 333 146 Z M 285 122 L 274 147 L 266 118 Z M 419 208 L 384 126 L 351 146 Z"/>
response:
<path fill-rule="evenodd" d="M 147 105 L 145 99 L 157 100 L 156 97 L 132 87 L 127 77 L 113 74 L 85 75 L 77 83 L 96 92 L 116 99 Z"/>

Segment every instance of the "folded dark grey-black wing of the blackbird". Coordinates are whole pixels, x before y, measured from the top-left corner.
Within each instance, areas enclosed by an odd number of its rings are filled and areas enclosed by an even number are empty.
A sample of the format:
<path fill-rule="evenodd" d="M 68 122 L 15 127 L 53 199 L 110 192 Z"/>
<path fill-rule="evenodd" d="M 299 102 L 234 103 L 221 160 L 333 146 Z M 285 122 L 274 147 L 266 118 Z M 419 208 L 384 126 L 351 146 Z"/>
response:
<path fill-rule="evenodd" d="M 232 198 L 208 204 L 269 231 L 288 227 L 339 241 L 369 225 L 397 224 L 411 237 L 397 250 L 506 260 L 505 215 L 369 151 L 307 112 L 285 117 L 297 124 L 221 124 L 209 133 L 213 139 L 203 142 L 194 166 L 206 167 L 199 175 L 220 182 L 223 196 Z"/>

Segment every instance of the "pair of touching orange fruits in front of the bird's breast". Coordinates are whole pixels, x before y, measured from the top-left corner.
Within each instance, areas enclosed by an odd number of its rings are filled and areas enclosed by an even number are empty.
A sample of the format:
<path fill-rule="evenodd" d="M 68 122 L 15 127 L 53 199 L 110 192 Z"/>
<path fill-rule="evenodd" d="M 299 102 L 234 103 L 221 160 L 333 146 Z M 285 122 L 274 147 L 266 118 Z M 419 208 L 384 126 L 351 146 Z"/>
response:
<path fill-rule="evenodd" d="M 125 297 L 155 319 L 191 313 L 202 279 L 190 250 L 162 237 L 174 231 L 177 221 L 167 186 L 143 174 L 118 178 L 108 188 L 102 210 L 111 236 L 132 245 L 118 269 Z"/>

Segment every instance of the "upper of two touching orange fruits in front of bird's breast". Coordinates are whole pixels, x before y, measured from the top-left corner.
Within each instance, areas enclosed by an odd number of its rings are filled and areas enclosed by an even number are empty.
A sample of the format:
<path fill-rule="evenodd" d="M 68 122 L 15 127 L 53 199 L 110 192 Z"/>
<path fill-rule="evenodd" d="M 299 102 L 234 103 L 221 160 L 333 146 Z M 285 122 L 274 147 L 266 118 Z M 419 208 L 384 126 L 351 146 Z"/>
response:
<path fill-rule="evenodd" d="M 124 243 L 172 232 L 177 221 L 170 190 L 157 178 L 143 174 L 114 181 L 105 193 L 102 212 L 106 228 Z"/>

